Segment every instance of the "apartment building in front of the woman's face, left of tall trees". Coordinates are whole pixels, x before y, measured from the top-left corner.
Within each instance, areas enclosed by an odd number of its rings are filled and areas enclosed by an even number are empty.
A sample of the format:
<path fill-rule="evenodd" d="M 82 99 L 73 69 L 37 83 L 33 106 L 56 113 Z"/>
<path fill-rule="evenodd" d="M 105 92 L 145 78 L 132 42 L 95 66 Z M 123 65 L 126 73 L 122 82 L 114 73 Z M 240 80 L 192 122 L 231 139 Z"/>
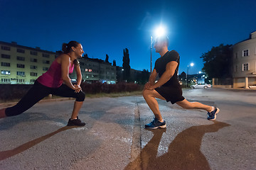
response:
<path fill-rule="evenodd" d="M 88 83 L 94 81 L 101 81 L 107 84 L 116 84 L 117 70 L 110 62 L 104 60 L 92 59 L 89 57 L 82 57 L 79 59 L 80 68 L 82 72 L 82 80 Z M 76 74 L 70 75 L 70 79 L 75 81 Z"/>

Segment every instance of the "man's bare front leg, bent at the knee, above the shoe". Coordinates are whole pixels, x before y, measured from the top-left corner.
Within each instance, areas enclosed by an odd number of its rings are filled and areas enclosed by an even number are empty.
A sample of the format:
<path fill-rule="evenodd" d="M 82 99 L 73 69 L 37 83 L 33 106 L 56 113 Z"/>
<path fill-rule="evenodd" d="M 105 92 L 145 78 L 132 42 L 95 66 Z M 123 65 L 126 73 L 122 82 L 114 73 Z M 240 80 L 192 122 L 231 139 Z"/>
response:
<path fill-rule="evenodd" d="M 156 98 L 160 98 L 162 100 L 166 100 L 163 96 L 161 96 L 157 91 L 155 90 L 147 90 L 144 89 L 143 91 L 143 97 L 148 104 L 151 111 L 154 113 L 155 117 L 161 122 L 163 121 L 163 118 L 161 117 L 161 113 L 159 111 L 159 104 L 156 101 Z"/>

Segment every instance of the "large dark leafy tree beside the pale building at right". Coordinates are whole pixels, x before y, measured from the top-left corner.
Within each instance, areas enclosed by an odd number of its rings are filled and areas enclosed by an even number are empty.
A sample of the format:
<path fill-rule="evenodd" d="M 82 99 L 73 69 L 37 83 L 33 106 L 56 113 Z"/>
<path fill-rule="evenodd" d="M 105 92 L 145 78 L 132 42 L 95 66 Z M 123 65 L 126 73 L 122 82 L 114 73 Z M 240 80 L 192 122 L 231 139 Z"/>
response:
<path fill-rule="evenodd" d="M 220 44 L 203 53 L 203 72 L 208 78 L 225 79 L 232 77 L 232 50 L 231 45 Z"/>

